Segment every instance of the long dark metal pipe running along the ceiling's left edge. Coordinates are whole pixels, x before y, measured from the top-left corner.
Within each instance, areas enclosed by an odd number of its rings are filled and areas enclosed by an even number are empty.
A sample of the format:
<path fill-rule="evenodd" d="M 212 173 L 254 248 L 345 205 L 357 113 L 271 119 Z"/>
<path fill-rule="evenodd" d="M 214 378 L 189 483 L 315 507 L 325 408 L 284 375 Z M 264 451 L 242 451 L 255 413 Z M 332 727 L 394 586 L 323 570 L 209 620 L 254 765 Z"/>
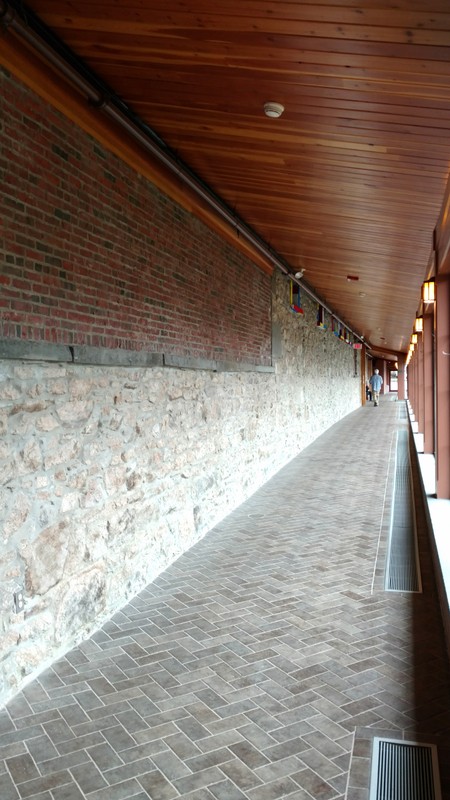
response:
<path fill-rule="evenodd" d="M 126 113 L 122 111 L 120 105 L 124 105 L 119 98 L 114 98 L 114 95 L 108 91 L 102 91 L 96 88 L 93 79 L 83 77 L 80 71 L 77 70 L 68 60 L 55 51 L 49 43 L 39 34 L 37 34 L 26 20 L 20 16 L 17 10 L 7 2 L 7 0 L 0 0 L 0 23 L 6 31 L 12 29 L 15 33 L 21 36 L 28 44 L 30 44 L 40 55 L 52 64 L 56 69 L 61 72 L 73 86 L 81 91 L 87 101 L 99 111 L 107 114 L 111 119 L 118 123 L 124 130 L 126 130 L 135 141 L 139 142 L 141 146 L 151 153 L 158 161 L 179 177 L 183 183 L 186 184 L 193 192 L 202 198 L 219 216 L 222 217 L 232 228 L 234 228 L 240 235 L 258 250 L 264 258 L 268 259 L 274 267 L 279 269 L 287 275 L 292 281 L 297 283 L 301 289 L 315 302 L 319 303 L 328 313 L 337 321 L 340 322 L 350 333 L 353 334 L 359 341 L 364 342 L 364 337 L 356 333 L 350 326 L 340 319 L 340 317 L 327 306 L 327 304 L 320 298 L 314 290 L 303 280 L 298 280 L 289 266 L 285 264 L 281 256 L 275 253 L 271 247 L 264 240 L 260 239 L 257 234 L 252 231 L 242 220 L 240 220 L 230 209 L 224 205 L 218 197 L 203 186 L 199 179 L 193 174 L 189 174 L 188 168 L 181 164 L 169 152 L 157 143 L 158 138 L 156 134 L 155 140 L 151 138 L 151 131 L 139 127 L 133 120 L 131 112 Z M 114 99 L 116 102 L 114 102 Z M 145 126 L 146 127 L 146 126 Z"/>

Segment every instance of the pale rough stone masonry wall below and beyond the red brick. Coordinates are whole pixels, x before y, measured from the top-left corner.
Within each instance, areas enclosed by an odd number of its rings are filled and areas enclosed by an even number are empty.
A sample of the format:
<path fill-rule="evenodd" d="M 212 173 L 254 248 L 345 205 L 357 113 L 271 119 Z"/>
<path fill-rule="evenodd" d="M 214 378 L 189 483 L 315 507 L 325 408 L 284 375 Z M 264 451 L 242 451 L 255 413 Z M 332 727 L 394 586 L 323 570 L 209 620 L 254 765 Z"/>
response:
<path fill-rule="evenodd" d="M 355 351 L 304 307 L 276 275 L 275 372 L 0 362 L 1 700 L 358 407 Z"/>

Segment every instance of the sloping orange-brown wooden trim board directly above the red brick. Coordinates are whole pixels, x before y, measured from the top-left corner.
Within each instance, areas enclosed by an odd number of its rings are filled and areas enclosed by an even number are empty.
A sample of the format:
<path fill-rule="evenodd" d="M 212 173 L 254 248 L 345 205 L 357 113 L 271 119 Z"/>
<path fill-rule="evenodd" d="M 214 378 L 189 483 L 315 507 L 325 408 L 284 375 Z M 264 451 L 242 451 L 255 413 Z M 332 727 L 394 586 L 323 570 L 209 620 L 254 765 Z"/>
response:
<path fill-rule="evenodd" d="M 110 119 L 89 103 L 82 92 L 73 86 L 56 67 L 18 37 L 13 31 L 0 28 L 0 63 L 37 95 L 58 109 L 78 127 L 100 142 L 140 175 L 150 180 L 186 211 L 194 214 L 219 233 L 233 247 L 247 256 L 261 270 L 271 275 L 274 265 L 251 239 L 242 235 L 242 222 L 228 221 L 210 205 L 207 199 L 177 173 L 145 150 L 119 122 Z M 199 184 L 200 185 L 200 184 Z M 231 214 L 230 214 L 231 216 Z M 256 235 L 255 235 L 256 238 Z"/>

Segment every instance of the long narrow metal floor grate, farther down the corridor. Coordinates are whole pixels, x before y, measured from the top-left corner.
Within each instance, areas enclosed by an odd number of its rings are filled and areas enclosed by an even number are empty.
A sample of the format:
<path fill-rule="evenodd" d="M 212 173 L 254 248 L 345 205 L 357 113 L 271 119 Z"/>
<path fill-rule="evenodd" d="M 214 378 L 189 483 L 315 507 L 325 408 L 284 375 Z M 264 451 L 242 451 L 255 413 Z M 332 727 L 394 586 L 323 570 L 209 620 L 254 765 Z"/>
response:
<path fill-rule="evenodd" d="M 394 492 L 385 589 L 421 592 L 408 431 L 397 434 Z"/>

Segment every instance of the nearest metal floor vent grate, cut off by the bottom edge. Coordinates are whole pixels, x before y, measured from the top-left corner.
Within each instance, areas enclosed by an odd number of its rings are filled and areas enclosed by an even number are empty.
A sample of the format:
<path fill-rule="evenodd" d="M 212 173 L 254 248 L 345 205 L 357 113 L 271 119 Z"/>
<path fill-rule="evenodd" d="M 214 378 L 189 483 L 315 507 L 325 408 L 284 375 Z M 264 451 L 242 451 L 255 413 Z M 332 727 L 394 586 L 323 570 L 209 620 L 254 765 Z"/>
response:
<path fill-rule="evenodd" d="M 375 738 L 369 800 L 442 800 L 435 745 Z"/>

